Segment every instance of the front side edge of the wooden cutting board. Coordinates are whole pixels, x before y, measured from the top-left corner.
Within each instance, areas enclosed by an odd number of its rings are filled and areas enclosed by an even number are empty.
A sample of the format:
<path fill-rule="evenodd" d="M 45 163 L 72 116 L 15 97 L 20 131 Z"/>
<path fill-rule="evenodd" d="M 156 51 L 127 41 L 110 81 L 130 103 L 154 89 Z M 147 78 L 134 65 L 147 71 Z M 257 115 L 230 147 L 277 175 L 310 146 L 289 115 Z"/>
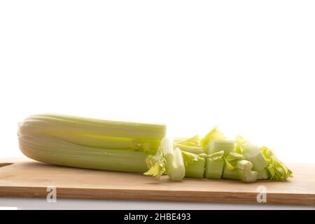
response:
<path fill-rule="evenodd" d="M 228 193 L 207 192 L 207 195 L 197 197 L 190 191 L 181 191 L 174 195 L 174 191 L 159 190 L 121 190 L 121 189 L 91 189 L 86 188 L 57 188 L 57 198 L 87 199 L 87 200 L 140 200 L 165 202 L 211 202 L 232 204 L 292 204 L 315 206 L 315 195 L 286 193 L 267 193 L 267 202 L 259 203 L 257 193 Z M 43 187 L 7 187 L 0 186 L 0 197 L 47 197 L 48 192 Z M 187 196 L 188 195 L 188 196 Z"/>

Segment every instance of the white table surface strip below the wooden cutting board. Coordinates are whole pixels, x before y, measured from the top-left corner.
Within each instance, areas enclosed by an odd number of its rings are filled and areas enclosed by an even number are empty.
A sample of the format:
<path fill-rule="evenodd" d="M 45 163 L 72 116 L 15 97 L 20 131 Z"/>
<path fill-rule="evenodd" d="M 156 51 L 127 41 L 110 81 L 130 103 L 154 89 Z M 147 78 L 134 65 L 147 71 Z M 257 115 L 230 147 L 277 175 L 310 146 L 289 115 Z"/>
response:
<path fill-rule="evenodd" d="M 288 206 L 274 204 L 216 204 L 199 202 L 148 202 L 124 200 L 69 200 L 57 199 L 48 203 L 45 198 L 0 197 L 1 209 L 312 209 L 310 206 Z"/>

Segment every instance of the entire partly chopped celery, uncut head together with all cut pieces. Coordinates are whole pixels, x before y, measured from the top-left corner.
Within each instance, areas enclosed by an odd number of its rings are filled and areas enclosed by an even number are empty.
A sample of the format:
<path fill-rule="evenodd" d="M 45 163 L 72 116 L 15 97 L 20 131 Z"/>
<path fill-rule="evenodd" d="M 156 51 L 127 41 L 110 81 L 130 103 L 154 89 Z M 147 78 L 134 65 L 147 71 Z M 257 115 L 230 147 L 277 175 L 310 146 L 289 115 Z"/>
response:
<path fill-rule="evenodd" d="M 278 181 L 292 176 L 274 151 L 236 137 L 226 140 L 214 127 L 205 137 L 165 137 L 166 125 L 78 118 L 30 116 L 18 130 L 22 153 L 41 162 L 68 167 L 167 174 L 207 179 Z"/>

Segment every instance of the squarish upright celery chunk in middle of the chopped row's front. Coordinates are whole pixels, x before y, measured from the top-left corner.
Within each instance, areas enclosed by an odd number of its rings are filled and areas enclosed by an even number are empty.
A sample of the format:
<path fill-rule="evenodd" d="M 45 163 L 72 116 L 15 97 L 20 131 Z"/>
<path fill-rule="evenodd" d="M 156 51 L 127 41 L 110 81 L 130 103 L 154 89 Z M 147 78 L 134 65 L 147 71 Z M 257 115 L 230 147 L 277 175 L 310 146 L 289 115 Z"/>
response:
<path fill-rule="evenodd" d="M 221 179 L 224 167 L 224 151 L 208 155 L 206 161 L 204 176 L 208 179 Z"/>

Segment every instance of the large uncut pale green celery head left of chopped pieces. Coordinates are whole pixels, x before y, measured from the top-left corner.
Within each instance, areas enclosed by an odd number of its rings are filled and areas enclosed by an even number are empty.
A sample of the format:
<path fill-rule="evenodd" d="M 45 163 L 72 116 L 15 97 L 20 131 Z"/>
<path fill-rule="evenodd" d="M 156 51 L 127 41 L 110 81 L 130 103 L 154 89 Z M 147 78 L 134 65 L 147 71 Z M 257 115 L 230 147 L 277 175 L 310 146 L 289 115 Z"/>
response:
<path fill-rule="evenodd" d="M 166 126 L 60 115 L 30 116 L 18 130 L 22 153 L 68 167 L 146 172 Z"/>

